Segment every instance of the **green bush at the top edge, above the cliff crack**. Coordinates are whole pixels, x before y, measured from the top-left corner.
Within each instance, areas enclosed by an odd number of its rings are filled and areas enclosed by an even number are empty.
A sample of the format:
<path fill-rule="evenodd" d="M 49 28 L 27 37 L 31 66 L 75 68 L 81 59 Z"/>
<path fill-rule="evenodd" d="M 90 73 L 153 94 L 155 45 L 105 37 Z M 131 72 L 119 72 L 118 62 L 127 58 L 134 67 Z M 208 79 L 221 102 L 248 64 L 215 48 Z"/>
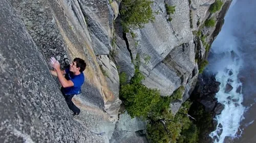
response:
<path fill-rule="evenodd" d="M 129 28 L 143 27 L 155 19 L 150 0 L 123 0 L 121 2 L 121 24 L 125 33 Z"/>

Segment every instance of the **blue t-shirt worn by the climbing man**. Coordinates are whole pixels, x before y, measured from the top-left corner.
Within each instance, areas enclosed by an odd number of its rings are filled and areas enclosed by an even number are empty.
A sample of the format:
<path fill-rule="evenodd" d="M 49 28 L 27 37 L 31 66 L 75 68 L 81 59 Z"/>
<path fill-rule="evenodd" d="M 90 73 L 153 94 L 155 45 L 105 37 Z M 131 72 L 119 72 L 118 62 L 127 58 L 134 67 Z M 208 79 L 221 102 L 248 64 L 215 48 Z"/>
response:
<path fill-rule="evenodd" d="M 81 90 L 81 86 L 84 82 L 84 75 L 81 72 L 79 75 L 74 75 L 73 72 L 70 72 L 69 68 L 65 69 L 66 75 L 65 78 L 67 80 L 71 80 L 74 83 L 73 87 L 63 88 L 63 92 L 66 95 L 79 94 Z"/>

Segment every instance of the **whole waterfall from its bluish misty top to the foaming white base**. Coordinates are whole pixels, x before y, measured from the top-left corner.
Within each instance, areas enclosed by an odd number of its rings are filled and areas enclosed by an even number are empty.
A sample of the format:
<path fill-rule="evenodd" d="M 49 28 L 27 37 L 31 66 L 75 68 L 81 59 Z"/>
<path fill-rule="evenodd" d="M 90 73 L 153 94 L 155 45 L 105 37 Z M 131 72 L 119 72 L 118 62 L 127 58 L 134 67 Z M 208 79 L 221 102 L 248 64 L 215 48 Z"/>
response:
<path fill-rule="evenodd" d="M 242 90 L 242 83 L 238 75 L 244 63 L 239 50 L 243 48 L 239 47 L 241 39 L 235 37 L 233 34 L 237 23 L 232 21 L 232 17 L 234 17 L 232 7 L 236 2 L 232 2 L 230 10 L 225 17 L 225 24 L 223 25 L 222 31 L 214 43 L 212 43 L 211 54 L 214 56 L 209 59 L 210 65 L 208 70 L 216 73 L 216 80 L 221 82 L 220 91 L 216 94 L 216 97 L 218 98 L 218 102 L 225 106 L 221 114 L 215 118 L 218 122 L 217 129 L 209 134 L 215 143 L 223 143 L 225 137 L 236 138 L 242 134 L 240 123 L 244 119 L 243 115 L 246 111 L 246 107 L 242 105 L 243 94 L 236 92 L 239 87 Z M 229 74 L 230 71 L 232 75 Z M 227 83 L 233 89 L 225 93 Z"/>

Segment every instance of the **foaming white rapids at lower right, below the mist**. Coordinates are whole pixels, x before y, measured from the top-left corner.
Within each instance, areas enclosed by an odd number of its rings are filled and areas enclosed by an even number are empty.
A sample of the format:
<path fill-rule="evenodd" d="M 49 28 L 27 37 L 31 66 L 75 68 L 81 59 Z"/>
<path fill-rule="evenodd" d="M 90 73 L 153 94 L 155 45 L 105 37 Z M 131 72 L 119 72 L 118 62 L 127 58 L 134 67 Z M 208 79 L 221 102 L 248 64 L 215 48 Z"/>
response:
<path fill-rule="evenodd" d="M 226 48 L 226 50 L 229 50 Z M 231 50 L 231 49 L 230 49 Z M 239 70 L 242 67 L 242 61 L 239 56 L 232 60 L 231 52 L 225 52 L 223 57 L 223 66 L 218 68 L 218 73 L 216 74 L 216 80 L 221 82 L 220 91 L 216 94 L 218 102 L 222 103 L 225 107 L 220 115 L 216 116 L 218 125 L 217 129 L 210 133 L 212 138 L 216 138 L 214 142 L 224 142 L 226 136 L 238 137 L 238 131 L 240 122 L 244 119 L 243 114 L 245 112 L 245 107 L 242 105 L 243 95 L 237 93 L 236 90 L 239 86 L 242 87 L 242 83 L 238 79 Z M 229 75 L 229 72 L 232 75 Z M 232 81 L 228 81 L 228 80 Z M 225 93 L 226 84 L 229 83 L 233 89 L 229 93 Z M 222 125 L 222 128 L 219 125 Z M 220 134 L 222 130 L 222 133 Z M 220 135 L 218 135 L 218 133 Z M 241 133 L 240 133 L 241 134 Z"/>

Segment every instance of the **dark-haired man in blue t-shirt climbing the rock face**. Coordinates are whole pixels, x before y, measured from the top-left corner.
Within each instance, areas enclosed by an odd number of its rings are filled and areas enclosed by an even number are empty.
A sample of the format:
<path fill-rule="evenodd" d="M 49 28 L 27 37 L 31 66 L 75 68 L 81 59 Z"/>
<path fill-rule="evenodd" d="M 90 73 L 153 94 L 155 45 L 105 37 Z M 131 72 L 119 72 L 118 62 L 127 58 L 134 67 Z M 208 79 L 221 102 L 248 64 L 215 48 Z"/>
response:
<path fill-rule="evenodd" d="M 65 59 L 66 69 L 60 70 L 60 65 L 57 60 L 51 58 L 51 64 L 54 71 L 51 70 L 52 75 L 57 76 L 61 84 L 61 93 L 73 111 L 73 117 L 79 115 L 80 109 L 72 102 L 74 95 L 79 94 L 81 86 L 84 82 L 83 71 L 86 69 L 86 62 L 80 58 L 75 58 L 70 64 L 68 59 Z M 65 76 L 63 76 L 65 74 Z"/>

